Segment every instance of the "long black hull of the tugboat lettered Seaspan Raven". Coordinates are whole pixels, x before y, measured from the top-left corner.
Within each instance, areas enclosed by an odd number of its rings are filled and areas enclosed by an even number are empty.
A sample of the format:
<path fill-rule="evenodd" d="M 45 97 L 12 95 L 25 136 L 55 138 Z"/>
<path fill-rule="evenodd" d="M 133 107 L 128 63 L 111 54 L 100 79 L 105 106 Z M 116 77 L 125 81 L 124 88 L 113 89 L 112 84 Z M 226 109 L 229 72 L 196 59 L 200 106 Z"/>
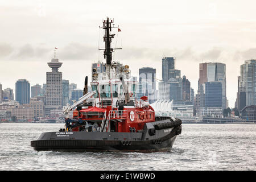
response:
<path fill-rule="evenodd" d="M 38 140 L 31 141 L 31 147 L 34 147 L 37 151 L 168 151 L 172 148 L 176 136 L 181 133 L 180 125 L 167 129 L 158 129 L 155 135 L 148 134 L 149 128 L 150 125 L 141 133 L 81 131 L 43 133 Z"/>

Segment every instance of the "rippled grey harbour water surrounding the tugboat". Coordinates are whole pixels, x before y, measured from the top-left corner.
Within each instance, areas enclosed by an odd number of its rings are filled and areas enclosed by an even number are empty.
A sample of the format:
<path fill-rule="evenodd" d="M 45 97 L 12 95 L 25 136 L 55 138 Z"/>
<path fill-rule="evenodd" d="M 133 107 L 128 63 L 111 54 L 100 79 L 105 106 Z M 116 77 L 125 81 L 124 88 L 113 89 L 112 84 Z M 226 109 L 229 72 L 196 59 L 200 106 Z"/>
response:
<path fill-rule="evenodd" d="M 183 124 L 167 152 L 34 151 L 64 124 L 1 123 L 0 170 L 256 170 L 255 124 Z"/>

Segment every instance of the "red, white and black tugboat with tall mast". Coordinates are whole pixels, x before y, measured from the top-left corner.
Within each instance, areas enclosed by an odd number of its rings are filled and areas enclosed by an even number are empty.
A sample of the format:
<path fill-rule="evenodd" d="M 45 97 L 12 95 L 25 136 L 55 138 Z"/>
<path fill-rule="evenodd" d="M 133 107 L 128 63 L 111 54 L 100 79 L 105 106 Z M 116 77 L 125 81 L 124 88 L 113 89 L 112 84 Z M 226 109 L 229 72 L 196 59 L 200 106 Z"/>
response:
<path fill-rule="evenodd" d="M 181 120 L 156 117 L 148 98 L 136 97 L 137 79 L 128 65 L 112 61 L 115 34 L 112 19 L 103 20 L 105 72 L 92 69 L 92 92 L 85 77 L 84 96 L 63 107 L 65 128 L 42 133 L 31 141 L 35 150 L 51 151 L 168 151 L 181 134 Z M 100 49 L 99 49 L 100 50 Z"/>

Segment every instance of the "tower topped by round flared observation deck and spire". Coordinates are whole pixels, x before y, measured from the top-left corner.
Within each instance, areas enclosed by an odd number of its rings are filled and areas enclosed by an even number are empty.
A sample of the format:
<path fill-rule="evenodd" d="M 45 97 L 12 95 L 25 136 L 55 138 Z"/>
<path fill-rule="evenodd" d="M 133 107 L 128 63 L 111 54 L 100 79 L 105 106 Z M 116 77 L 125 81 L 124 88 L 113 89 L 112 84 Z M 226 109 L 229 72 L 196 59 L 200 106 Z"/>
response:
<path fill-rule="evenodd" d="M 47 63 L 52 72 L 46 72 L 46 114 L 62 106 L 62 73 L 58 71 L 62 63 L 59 59 L 52 59 Z"/>

